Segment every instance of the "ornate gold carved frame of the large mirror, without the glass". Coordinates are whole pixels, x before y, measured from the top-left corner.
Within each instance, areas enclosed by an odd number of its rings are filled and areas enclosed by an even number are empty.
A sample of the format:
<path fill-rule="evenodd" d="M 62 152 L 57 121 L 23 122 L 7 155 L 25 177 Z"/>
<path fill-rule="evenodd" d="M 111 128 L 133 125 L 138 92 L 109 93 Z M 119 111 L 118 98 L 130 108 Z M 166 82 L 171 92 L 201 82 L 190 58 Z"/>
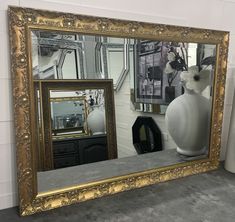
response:
<path fill-rule="evenodd" d="M 8 14 L 21 215 L 30 215 L 125 190 L 214 170 L 218 167 L 229 43 L 228 32 L 18 7 L 10 7 Z M 35 108 L 30 102 L 33 98 L 32 61 L 30 57 L 31 29 L 216 44 L 215 87 L 208 158 L 38 194 L 33 147 L 33 144 L 35 144 L 35 123 L 32 113 L 34 113 Z"/>

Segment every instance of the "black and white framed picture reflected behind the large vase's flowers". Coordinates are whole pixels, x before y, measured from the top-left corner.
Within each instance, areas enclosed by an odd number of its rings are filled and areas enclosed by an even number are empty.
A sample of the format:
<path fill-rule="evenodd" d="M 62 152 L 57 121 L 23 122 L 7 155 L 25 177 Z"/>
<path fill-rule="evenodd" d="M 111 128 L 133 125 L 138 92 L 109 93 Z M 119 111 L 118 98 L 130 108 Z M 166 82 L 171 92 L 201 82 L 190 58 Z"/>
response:
<path fill-rule="evenodd" d="M 183 93 L 186 48 L 180 43 L 139 41 L 136 49 L 136 102 L 167 105 Z"/>

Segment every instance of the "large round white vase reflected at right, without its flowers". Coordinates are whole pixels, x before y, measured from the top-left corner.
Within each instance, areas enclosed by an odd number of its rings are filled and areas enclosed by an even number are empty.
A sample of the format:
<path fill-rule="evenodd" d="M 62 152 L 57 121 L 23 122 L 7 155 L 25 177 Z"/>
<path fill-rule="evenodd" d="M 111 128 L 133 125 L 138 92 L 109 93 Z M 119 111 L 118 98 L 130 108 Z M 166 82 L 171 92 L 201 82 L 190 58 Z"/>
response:
<path fill-rule="evenodd" d="M 169 104 L 166 127 L 178 153 L 186 156 L 205 153 L 209 143 L 209 107 L 207 98 L 187 90 Z"/>

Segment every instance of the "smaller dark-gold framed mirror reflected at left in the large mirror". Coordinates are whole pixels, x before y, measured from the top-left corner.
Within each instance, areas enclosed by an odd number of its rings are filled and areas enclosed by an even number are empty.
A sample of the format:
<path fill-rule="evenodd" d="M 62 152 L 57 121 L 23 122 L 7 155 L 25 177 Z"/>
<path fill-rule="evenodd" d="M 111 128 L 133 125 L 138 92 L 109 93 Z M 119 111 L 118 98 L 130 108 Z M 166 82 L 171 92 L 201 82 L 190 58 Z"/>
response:
<path fill-rule="evenodd" d="M 117 158 L 112 80 L 34 86 L 38 172 Z"/>

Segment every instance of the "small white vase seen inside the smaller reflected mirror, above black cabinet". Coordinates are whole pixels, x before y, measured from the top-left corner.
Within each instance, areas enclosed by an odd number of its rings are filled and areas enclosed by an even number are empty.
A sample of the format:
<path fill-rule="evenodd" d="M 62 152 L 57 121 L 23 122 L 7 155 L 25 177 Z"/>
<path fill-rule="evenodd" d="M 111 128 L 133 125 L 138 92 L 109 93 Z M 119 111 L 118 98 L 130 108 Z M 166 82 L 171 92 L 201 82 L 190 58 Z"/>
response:
<path fill-rule="evenodd" d="M 105 133 L 105 113 L 99 106 L 93 106 L 92 111 L 87 117 L 88 128 L 92 135 Z"/>

